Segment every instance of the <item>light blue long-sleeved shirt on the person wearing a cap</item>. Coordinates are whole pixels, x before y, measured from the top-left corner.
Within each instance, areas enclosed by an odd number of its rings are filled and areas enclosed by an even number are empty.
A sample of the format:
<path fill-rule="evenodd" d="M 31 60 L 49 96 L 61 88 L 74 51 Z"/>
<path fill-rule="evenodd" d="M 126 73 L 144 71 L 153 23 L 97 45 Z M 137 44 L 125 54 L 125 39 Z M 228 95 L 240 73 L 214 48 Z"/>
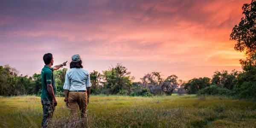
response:
<path fill-rule="evenodd" d="M 82 68 L 71 68 L 67 70 L 64 90 L 86 90 L 86 87 L 91 87 L 90 74 Z"/>

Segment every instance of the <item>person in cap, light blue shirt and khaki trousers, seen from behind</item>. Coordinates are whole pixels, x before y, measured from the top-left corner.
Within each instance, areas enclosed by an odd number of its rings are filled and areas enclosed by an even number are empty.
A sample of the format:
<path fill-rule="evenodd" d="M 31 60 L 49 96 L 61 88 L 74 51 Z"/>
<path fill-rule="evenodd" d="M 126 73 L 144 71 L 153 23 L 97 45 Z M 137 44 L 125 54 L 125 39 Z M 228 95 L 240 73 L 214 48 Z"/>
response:
<path fill-rule="evenodd" d="M 90 73 L 83 69 L 80 55 L 73 55 L 70 69 L 67 70 L 63 86 L 67 107 L 74 121 L 81 116 L 82 124 L 87 125 L 87 105 L 90 97 Z M 78 109 L 79 107 L 79 109 Z M 78 116 L 78 110 L 80 110 Z"/>

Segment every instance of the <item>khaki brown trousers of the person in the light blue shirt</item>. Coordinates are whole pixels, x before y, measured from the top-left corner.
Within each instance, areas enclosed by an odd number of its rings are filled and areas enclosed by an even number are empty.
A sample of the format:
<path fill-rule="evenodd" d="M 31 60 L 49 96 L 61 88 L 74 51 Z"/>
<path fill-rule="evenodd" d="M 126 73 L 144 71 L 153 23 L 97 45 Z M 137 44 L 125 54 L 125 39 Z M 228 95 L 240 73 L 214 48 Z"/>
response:
<path fill-rule="evenodd" d="M 68 93 L 68 108 L 71 111 L 73 119 L 86 119 L 87 117 L 87 92 L 73 92 Z M 86 119 L 87 120 L 87 119 Z"/>

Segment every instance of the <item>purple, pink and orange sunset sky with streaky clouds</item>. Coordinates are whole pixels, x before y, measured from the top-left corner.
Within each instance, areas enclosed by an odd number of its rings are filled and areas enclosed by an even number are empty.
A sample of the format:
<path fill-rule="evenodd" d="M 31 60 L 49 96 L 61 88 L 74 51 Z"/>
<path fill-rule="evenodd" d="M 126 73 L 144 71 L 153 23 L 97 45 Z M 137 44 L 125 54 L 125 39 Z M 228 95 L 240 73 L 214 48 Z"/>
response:
<path fill-rule="evenodd" d="M 0 65 L 31 76 L 50 52 L 55 64 L 81 55 L 89 72 L 121 63 L 134 81 L 154 71 L 186 81 L 241 70 L 244 53 L 229 35 L 244 3 L 250 0 L 1 0 Z"/>

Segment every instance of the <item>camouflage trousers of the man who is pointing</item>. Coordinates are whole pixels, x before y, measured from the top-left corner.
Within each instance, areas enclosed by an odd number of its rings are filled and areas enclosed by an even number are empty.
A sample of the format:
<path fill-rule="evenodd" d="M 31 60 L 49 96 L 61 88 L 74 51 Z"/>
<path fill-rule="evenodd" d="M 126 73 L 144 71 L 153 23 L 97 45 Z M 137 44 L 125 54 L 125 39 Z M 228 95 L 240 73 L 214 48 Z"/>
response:
<path fill-rule="evenodd" d="M 49 101 L 48 99 L 41 99 L 41 103 L 43 106 L 43 119 L 41 128 L 47 128 L 49 121 L 52 119 L 55 107 L 53 106 L 52 101 Z"/>

